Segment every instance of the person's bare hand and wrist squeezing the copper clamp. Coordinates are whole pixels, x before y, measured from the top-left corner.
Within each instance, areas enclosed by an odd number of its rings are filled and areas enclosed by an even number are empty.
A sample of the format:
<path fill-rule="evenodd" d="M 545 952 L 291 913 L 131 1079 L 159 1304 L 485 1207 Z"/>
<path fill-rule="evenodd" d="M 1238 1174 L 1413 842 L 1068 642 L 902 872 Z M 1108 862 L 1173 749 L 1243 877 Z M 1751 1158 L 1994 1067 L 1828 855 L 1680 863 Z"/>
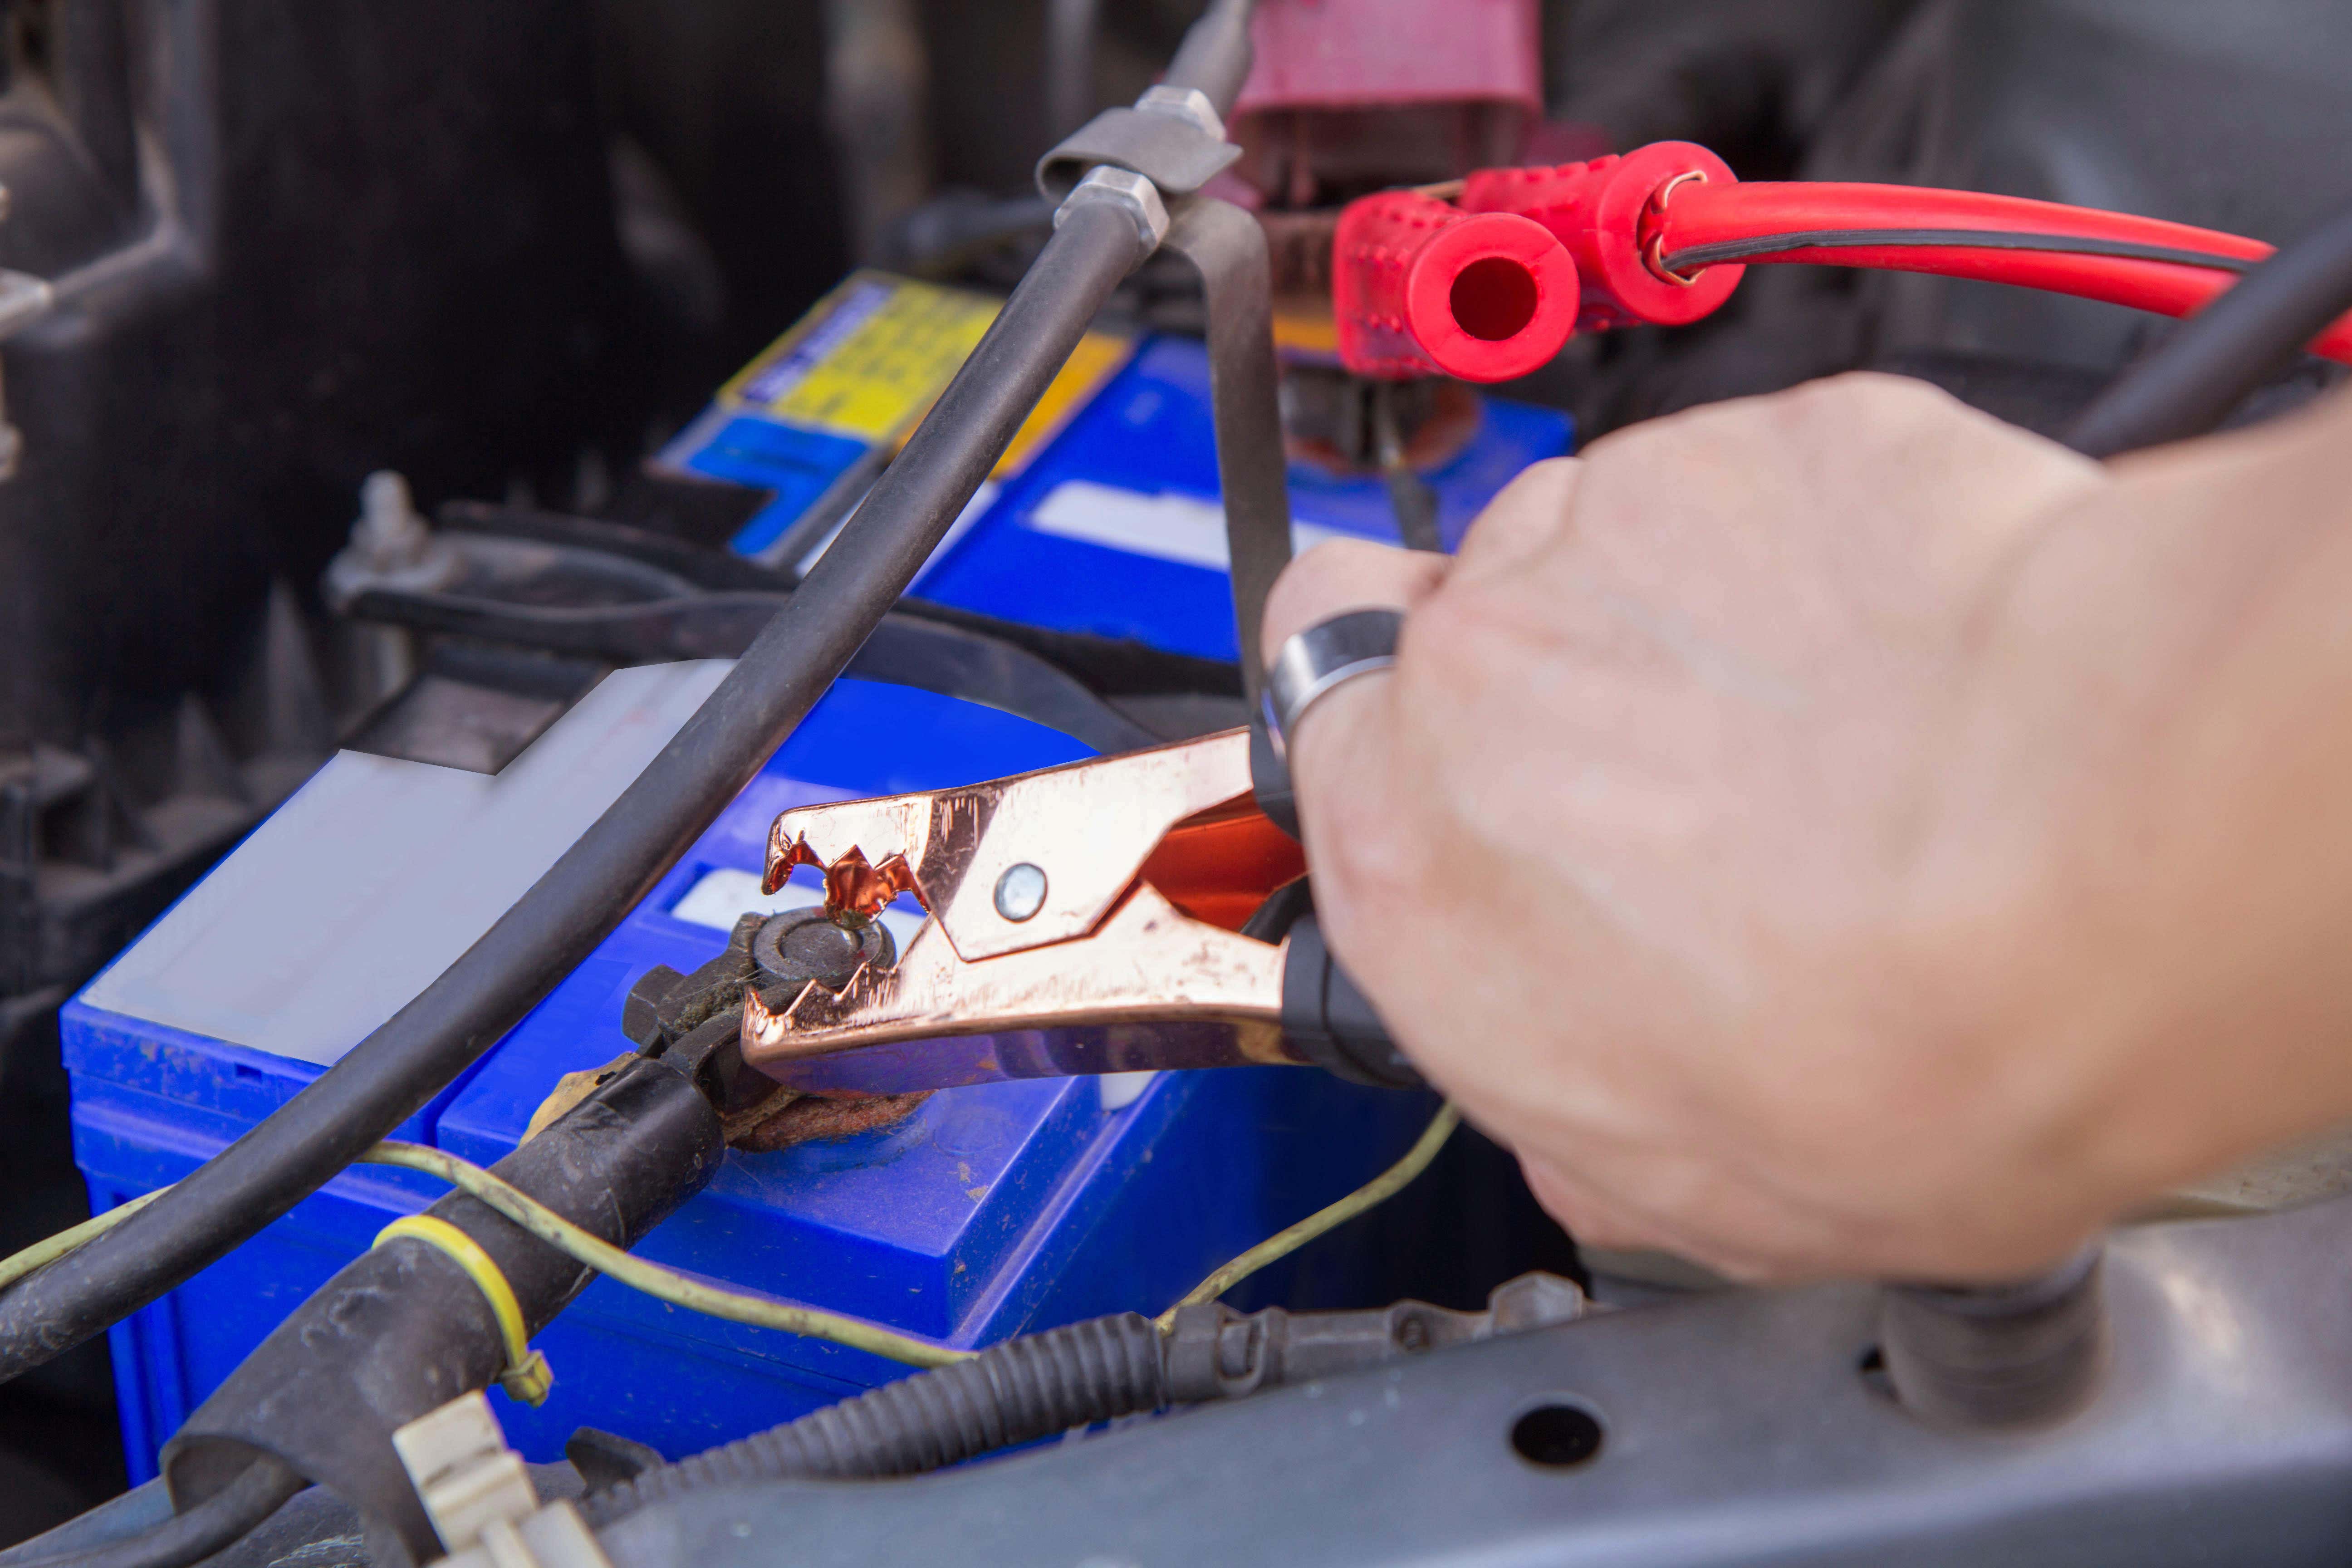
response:
<path fill-rule="evenodd" d="M 2230 877 L 2277 811 L 2343 818 L 2340 748 L 2279 764 L 2307 797 L 2169 748 L 2310 729 L 2260 661 L 2199 675 L 2319 548 L 2216 496 L 2267 475 L 2291 512 L 2324 444 L 2305 421 L 2107 473 L 1846 376 L 1545 463 L 1454 559 L 1322 545 L 1268 649 L 1406 609 L 1395 672 L 1291 736 L 1334 952 L 1578 1239 L 1738 1276 L 2025 1274 L 2317 1131 L 2352 1110 L 2317 1051 L 2352 997 L 2256 931 L 2314 952 L 2352 856 L 2328 839 L 2319 891 Z M 2305 621 L 2274 665 L 2326 642 Z M 2267 924 L 2216 943 L 2218 907 Z M 2223 1048 L 2265 985 L 2284 1077 Z"/>

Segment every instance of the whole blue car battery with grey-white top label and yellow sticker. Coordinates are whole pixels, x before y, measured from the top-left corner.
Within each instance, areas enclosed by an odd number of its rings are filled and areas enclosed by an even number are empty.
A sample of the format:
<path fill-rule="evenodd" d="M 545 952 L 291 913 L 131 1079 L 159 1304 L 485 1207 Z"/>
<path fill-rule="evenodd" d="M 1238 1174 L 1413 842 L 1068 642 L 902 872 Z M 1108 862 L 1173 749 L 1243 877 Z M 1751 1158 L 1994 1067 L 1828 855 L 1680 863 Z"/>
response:
<path fill-rule="evenodd" d="M 739 538 L 750 555 L 781 559 L 786 541 L 814 557 L 856 503 L 844 489 L 887 461 L 976 339 L 971 313 L 948 310 L 976 296 L 931 301 L 929 315 L 906 306 L 915 320 L 894 320 L 884 299 L 828 334 L 856 284 L 929 289 L 851 280 L 670 447 L 677 468 L 774 491 Z M 901 336 L 873 341 L 877 320 Z M 760 381 L 786 360 L 788 371 Z M 795 386 L 807 393 L 797 404 Z M 1489 402 L 1482 418 L 1432 475 L 1451 536 L 1512 473 L 1566 447 L 1557 414 Z M 1395 536 L 1378 480 L 1294 473 L 1294 494 L 1308 536 Z M 1037 625 L 1230 658 L 1214 496 L 1200 346 L 1096 334 L 920 590 Z M 621 670 L 496 776 L 353 752 L 329 762 L 64 1009 L 75 1157 L 92 1206 L 179 1180 L 358 1044 L 529 886 L 722 672 L 720 661 Z M 630 1048 L 621 1004 L 644 971 L 691 971 L 746 910 L 814 903 L 809 872 L 760 893 L 767 825 L 786 806 L 976 783 L 1082 755 L 1068 736 L 1007 712 L 837 682 L 593 957 L 395 1135 L 496 1161 L 562 1074 Z M 887 919 L 906 936 L 922 910 L 901 900 Z M 1395 1161 L 1430 1112 L 1428 1095 L 1298 1067 L 948 1088 L 896 1126 L 729 1152 L 713 1185 L 637 1251 L 736 1291 L 978 1347 L 1091 1314 L 1162 1309 L 1225 1258 Z M 188 1410 L 292 1307 L 390 1218 L 440 1192 L 416 1173 L 353 1166 L 118 1324 L 132 1476 L 155 1474 Z M 1282 1300 L 1298 1269 L 1322 1269 L 1324 1302 L 1390 1295 L 1378 1258 L 1310 1248 L 1251 1298 Z M 492 1394 L 532 1460 L 560 1458 L 576 1427 L 677 1458 L 906 1373 L 614 1281 L 593 1284 L 536 1345 L 555 1371 L 546 1403 Z"/>

